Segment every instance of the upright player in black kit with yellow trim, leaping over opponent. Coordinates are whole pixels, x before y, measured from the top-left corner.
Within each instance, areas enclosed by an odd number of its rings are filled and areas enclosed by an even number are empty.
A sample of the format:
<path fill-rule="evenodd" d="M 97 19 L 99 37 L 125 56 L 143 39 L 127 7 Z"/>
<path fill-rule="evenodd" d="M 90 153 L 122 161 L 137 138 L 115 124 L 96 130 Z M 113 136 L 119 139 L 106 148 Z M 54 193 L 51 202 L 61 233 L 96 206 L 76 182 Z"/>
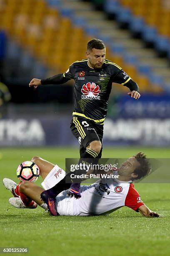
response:
<path fill-rule="evenodd" d="M 105 44 L 101 40 L 92 39 L 87 43 L 87 59 L 75 61 L 63 74 L 42 80 L 34 78 L 29 84 L 36 88 L 41 84 L 63 84 L 74 79 L 74 111 L 70 128 L 80 143 L 80 162 L 81 159 L 101 158 L 103 125 L 112 82 L 128 87 L 128 95 L 134 99 L 140 98 L 138 84 L 121 67 L 106 60 L 105 51 Z M 66 177 L 70 177 L 70 173 Z M 57 215 L 55 197 L 63 191 L 63 184 L 65 189 L 70 188 L 68 196 L 81 197 L 80 183 L 66 183 L 66 177 L 41 194 L 52 215 Z"/>

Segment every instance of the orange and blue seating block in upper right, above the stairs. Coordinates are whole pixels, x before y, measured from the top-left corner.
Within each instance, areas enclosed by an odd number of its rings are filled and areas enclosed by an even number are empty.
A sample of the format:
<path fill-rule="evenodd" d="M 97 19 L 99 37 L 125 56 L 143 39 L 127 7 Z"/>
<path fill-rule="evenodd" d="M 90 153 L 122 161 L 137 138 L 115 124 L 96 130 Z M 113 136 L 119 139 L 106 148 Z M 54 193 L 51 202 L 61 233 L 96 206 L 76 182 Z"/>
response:
<path fill-rule="evenodd" d="M 144 41 L 152 42 L 160 54 L 169 56 L 170 8 L 166 8 L 163 1 L 106 0 L 105 11 L 119 22 L 129 24 L 131 31 L 140 33 Z"/>

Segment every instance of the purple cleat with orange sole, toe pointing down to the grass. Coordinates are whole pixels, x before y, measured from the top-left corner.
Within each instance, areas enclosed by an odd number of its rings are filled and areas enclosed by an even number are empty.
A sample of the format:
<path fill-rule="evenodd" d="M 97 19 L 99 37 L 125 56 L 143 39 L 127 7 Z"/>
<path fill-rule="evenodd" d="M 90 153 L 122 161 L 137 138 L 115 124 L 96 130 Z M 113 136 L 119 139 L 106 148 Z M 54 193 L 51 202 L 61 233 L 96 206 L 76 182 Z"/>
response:
<path fill-rule="evenodd" d="M 41 193 L 41 199 L 47 204 L 48 210 L 53 216 L 57 216 L 57 212 L 55 210 L 55 198 L 53 195 L 50 195 L 50 192 L 47 190 Z"/>

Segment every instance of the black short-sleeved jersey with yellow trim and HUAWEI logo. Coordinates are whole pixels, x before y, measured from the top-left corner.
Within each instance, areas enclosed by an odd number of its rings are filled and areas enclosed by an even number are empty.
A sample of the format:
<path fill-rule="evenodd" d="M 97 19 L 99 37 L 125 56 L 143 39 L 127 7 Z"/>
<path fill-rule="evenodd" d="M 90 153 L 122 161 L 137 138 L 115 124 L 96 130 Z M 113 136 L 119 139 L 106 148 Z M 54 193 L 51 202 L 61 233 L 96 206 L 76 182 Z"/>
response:
<path fill-rule="evenodd" d="M 131 79 L 112 61 L 105 60 L 101 69 L 93 69 L 87 59 L 75 61 L 63 76 L 75 81 L 73 116 L 82 116 L 96 124 L 102 124 L 107 115 L 112 82 L 124 85 Z"/>

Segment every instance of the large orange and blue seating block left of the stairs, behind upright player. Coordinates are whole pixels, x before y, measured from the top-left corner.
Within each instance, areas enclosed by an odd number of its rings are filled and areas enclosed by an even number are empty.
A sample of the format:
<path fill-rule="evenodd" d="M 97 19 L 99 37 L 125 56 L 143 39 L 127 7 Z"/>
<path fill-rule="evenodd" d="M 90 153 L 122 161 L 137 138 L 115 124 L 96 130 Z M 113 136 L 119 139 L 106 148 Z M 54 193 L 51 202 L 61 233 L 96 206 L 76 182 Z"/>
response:
<path fill-rule="evenodd" d="M 94 36 L 103 38 L 105 42 L 109 41 L 109 38 L 102 37 L 95 26 L 88 26 L 83 17 L 74 15 L 74 10 L 63 6 L 60 0 L 3 0 L 2 2 L 0 29 L 5 29 L 17 43 L 26 46 L 36 58 L 57 72 L 67 70 L 77 59 L 84 59 L 87 41 Z M 132 1 L 127 2 L 130 7 Z M 112 8 L 116 6 L 119 8 L 118 1 L 115 3 Z M 138 8 L 136 11 L 139 11 Z M 126 15 L 122 15 L 120 19 L 128 18 L 129 14 L 130 11 L 126 10 Z M 162 44 L 166 42 L 163 41 Z M 152 82 L 150 79 L 152 70 L 141 71 L 138 59 L 129 56 L 120 44 L 107 46 L 107 59 L 124 68 L 140 84 L 140 91 L 163 90 L 159 84 L 161 79 L 154 79 Z M 121 88 L 124 90 L 123 87 Z"/>

